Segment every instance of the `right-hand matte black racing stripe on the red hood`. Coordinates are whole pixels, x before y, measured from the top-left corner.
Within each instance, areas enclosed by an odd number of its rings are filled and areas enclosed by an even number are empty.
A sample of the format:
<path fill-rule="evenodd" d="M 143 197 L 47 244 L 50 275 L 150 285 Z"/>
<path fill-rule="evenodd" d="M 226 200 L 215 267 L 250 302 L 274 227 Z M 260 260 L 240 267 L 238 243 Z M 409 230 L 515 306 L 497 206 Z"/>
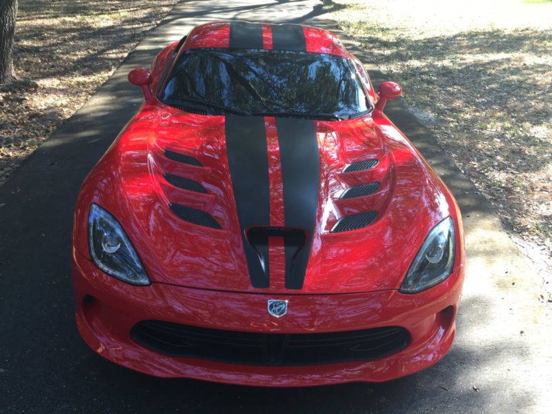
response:
<path fill-rule="evenodd" d="M 306 243 L 298 253 L 296 247 L 285 246 L 286 264 L 291 263 L 286 266 L 286 288 L 300 289 L 311 254 L 318 207 L 318 141 L 315 125 L 309 119 L 276 118 L 276 130 L 282 161 L 285 226 L 307 232 Z M 291 257 L 295 253 L 295 258 Z"/>

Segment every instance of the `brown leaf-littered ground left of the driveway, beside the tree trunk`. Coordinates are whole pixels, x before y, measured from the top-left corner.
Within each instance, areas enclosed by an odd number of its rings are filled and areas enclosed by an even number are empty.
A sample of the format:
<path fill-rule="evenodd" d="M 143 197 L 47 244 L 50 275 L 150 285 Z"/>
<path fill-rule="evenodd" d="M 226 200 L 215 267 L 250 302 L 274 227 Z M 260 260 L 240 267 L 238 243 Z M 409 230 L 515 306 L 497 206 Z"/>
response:
<path fill-rule="evenodd" d="M 0 185 L 177 1 L 19 0 L 19 81 L 0 88 Z"/>

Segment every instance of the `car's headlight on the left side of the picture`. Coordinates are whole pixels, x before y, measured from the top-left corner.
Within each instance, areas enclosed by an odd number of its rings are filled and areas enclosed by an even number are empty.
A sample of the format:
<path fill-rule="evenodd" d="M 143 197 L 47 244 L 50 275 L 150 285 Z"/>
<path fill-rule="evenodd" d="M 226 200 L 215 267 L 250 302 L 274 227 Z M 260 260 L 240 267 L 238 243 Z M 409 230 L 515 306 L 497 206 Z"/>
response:
<path fill-rule="evenodd" d="M 148 285 L 150 279 L 123 228 L 97 204 L 90 206 L 88 246 L 92 262 L 108 275 L 133 285 Z"/>

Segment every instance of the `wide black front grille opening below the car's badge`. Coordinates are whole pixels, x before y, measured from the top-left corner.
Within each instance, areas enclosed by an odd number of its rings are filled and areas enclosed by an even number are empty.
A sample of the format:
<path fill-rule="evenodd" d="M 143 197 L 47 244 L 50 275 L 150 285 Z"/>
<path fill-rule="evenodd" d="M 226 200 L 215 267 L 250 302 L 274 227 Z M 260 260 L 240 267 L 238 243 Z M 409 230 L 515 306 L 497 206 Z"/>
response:
<path fill-rule="evenodd" d="M 362 362 L 406 348 L 410 335 L 399 326 L 333 333 L 252 333 L 143 321 L 132 338 L 147 348 L 189 357 L 257 366 L 306 366 Z"/>

